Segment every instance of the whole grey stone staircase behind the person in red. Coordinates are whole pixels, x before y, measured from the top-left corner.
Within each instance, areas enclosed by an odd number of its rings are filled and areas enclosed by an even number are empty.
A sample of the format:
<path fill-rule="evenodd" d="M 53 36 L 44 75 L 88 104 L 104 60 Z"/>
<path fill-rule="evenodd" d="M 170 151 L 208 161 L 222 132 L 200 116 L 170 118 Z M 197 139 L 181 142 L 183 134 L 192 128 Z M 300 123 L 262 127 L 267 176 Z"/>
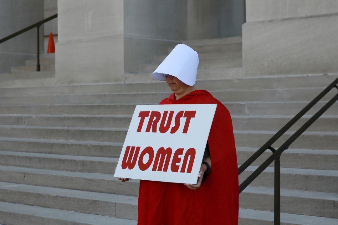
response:
<path fill-rule="evenodd" d="M 232 115 L 239 166 L 338 76 L 243 78 L 240 38 L 185 43 L 200 58 L 196 88 L 209 90 Z M 1 80 L 0 224 L 137 224 L 139 181 L 122 183 L 113 173 L 135 106 L 171 93 L 150 75 L 165 56 L 126 74 L 124 84 L 55 86 L 53 76 L 41 75 L 51 71 Z M 338 103 L 282 154 L 281 224 L 338 224 L 337 124 Z M 263 153 L 240 182 L 270 155 Z M 273 224 L 273 169 L 240 194 L 240 225 Z"/>

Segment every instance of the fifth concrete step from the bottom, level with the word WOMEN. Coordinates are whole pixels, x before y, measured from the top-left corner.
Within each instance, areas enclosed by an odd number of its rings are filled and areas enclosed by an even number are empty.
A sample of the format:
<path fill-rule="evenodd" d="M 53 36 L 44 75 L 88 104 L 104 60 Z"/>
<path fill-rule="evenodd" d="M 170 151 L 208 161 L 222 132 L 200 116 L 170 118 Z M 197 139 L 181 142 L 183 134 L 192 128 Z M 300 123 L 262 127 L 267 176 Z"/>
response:
<path fill-rule="evenodd" d="M 123 142 L 65 141 L 25 138 L 0 138 L 0 150 L 60 154 L 71 156 L 120 157 Z M 263 145 L 262 143 L 261 145 Z M 259 146 L 260 147 L 260 146 Z M 259 147 L 237 145 L 237 160 L 244 163 Z M 271 155 L 265 151 L 252 165 L 259 166 Z M 336 150 L 287 149 L 281 156 L 283 167 L 338 170 Z"/>

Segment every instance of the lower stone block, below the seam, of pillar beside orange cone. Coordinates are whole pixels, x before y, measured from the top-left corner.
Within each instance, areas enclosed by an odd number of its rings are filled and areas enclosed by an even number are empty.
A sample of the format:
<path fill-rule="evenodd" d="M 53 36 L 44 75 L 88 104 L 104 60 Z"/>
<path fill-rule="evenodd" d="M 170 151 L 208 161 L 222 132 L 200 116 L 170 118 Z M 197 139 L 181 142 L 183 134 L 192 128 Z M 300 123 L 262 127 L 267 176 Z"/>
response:
<path fill-rule="evenodd" d="M 123 36 L 62 41 L 61 32 L 55 46 L 57 84 L 124 81 Z"/>

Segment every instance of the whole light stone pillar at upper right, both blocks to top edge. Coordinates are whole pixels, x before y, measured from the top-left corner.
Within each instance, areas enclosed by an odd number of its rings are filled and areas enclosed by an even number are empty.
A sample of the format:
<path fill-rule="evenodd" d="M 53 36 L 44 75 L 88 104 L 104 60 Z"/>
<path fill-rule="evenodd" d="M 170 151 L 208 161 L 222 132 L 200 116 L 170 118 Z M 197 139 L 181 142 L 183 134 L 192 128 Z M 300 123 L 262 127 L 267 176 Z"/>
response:
<path fill-rule="evenodd" d="M 244 76 L 338 73 L 338 1 L 246 0 Z"/>

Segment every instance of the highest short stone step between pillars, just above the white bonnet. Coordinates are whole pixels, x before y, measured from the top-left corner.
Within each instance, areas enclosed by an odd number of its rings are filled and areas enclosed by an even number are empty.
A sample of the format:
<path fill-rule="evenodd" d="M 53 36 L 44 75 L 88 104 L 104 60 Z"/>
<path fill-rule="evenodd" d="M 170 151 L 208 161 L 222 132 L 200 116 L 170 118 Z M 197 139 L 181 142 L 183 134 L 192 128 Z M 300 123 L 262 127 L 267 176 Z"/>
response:
<path fill-rule="evenodd" d="M 237 37 L 183 40 L 182 43 L 190 46 L 191 48 L 196 46 L 224 45 L 224 44 L 242 43 L 242 37 L 237 36 Z"/>

